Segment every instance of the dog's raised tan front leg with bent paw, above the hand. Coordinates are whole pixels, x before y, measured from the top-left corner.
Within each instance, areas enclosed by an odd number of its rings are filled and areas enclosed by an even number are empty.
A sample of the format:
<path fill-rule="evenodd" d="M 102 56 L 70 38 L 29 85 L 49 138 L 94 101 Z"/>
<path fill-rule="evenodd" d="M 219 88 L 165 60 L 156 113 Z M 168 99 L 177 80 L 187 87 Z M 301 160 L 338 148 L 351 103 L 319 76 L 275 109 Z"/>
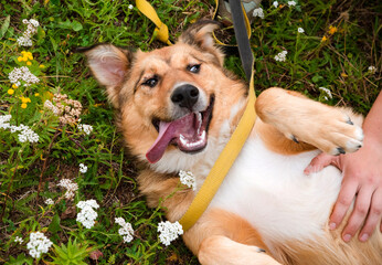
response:
<path fill-rule="evenodd" d="M 353 152 L 362 147 L 362 121 L 349 109 L 273 87 L 258 96 L 256 112 L 262 121 L 295 142 L 307 142 L 331 155 Z"/>

